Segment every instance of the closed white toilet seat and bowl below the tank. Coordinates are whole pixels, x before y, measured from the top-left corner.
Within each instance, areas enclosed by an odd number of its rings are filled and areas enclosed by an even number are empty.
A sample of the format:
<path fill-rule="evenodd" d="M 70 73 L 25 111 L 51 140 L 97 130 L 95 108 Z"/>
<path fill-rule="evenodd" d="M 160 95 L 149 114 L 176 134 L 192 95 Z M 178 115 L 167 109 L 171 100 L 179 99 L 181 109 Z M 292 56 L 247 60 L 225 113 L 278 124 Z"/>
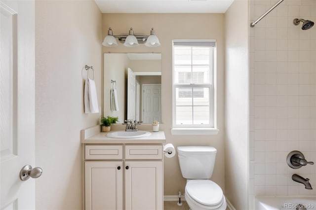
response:
<path fill-rule="evenodd" d="M 198 209 L 226 209 L 226 200 L 222 189 L 211 180 L 188 180 L 185 190 L 186 200 L 191 200 L 190 203 L 194 203 Z M 221 208 L 222 206 L 224 208 Z"/>

